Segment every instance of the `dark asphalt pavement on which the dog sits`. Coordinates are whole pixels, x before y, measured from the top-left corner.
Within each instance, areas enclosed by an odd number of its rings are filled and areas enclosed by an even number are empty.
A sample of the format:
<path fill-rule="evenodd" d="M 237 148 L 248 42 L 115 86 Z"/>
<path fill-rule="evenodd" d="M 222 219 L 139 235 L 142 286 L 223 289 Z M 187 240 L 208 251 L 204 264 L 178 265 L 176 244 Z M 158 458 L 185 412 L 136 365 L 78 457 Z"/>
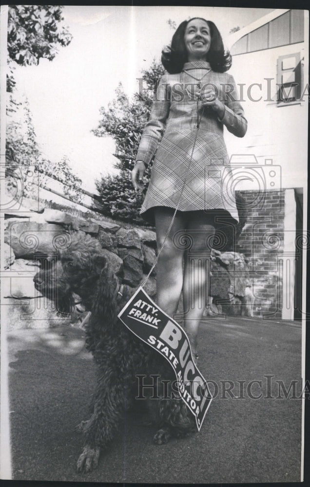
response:
<path fill-rule="evenodd" d="M 15 330 L 7 343 L 15 480 L 300 481 L 299 322 L 229 317 L 202 323 L 198 367 L 216 395 L 201 431 L 155 445 L 154 428 L 130 412 L 97 469 L 87 474 L 76 472 L 82 438 L 75 426 L 88 418 L 95 379 L 83 331 L 68 325 Z M 279 398 L 279 381 L 287 390 L 295 381 L 296 393 Z"/>

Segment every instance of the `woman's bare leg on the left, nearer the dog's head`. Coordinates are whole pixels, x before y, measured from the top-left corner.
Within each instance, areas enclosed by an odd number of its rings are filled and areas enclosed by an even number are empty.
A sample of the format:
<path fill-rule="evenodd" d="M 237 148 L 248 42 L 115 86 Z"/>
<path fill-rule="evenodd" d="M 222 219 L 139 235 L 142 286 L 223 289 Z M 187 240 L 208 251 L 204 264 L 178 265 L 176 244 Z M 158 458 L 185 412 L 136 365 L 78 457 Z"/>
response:
<path fill-rule="evenodd" d="M 165 235 L 171 223 L 174 209 L 158 207 L 154 209 L 157 248 L 161 248 Z M 173 226 L 166 243 L 160 252 L 157 262 L 157 304 L 173 318 L 176 313 L 183 286 L 182 262 L 184 249 L 174 245 L 174 235 L 179 230 L 184 230 L 185 217 L 181 212 L 175 215 Z"/>

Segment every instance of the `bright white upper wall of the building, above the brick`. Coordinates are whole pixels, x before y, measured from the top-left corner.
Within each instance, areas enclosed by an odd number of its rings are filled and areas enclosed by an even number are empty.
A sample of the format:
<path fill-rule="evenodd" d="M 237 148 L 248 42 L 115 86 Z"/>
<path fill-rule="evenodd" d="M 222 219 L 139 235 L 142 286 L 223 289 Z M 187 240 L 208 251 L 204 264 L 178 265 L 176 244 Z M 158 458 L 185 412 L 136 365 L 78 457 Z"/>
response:
<path fill-rule="evenodd" d="M 281 179 L 274 178 L 274 188 L 306 189 L 309 91 L 306 90 L 304 100 L 298 104 L 280 107 L 276 101 L 271 101 L 271 98 L 276 100 L 278 57 L 297 52 L 301 53 L 301 59 L 305 58 L 305 87 L 308 83 L 308 49 L 305 43 L 236 55 L 232 58 L 230 73 L 237 84 L 244 84 L 242 88 L 238 88 L 241 94 L 243 90 L 242 98 L 245 101 L 241 103 L 248 120 L 248 131 L 242 139 L 237 139 L 226 131 L 228 151 L 230 155 L 254 154 L 262 166 L 265 159 L 272 159 L 273 165 L 279 167 L 277 174 L 281 169 Z M 267 81 L 266 78 L 271 80 Z M 257 181 L 243 180 L 236 184 L 235 189 L 256 189 L 257 184 Z M 270 188 L 268 181 L 267 188 Z"/>

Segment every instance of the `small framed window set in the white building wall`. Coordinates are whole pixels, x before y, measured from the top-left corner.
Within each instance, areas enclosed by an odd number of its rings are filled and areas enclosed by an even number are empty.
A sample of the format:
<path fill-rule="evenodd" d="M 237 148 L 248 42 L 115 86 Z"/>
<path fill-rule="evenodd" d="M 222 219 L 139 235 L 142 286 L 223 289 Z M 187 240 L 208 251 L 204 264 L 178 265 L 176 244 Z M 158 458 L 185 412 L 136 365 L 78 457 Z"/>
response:
<path fill-rule="evenodd" d="M 290 103 L 301 96 L 300 53 L 280 56 L 277 60 L 278 103 Z"/>

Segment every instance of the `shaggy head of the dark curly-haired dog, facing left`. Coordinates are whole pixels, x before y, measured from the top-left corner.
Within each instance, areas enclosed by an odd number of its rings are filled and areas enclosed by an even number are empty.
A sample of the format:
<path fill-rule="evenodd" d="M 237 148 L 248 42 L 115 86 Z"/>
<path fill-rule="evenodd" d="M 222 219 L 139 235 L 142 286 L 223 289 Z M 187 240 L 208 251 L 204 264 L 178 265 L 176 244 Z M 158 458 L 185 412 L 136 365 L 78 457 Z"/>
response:
<path fill-rule="evenodd" d="M 70 235 L 66 248 L 44 262 L 35 275 L 35 287 L 56 303 L 58 311 L 70 313 L 78 295 L 90 308 L 98 280 L 107 260 L 96 239 L 76 232 Z"/>

